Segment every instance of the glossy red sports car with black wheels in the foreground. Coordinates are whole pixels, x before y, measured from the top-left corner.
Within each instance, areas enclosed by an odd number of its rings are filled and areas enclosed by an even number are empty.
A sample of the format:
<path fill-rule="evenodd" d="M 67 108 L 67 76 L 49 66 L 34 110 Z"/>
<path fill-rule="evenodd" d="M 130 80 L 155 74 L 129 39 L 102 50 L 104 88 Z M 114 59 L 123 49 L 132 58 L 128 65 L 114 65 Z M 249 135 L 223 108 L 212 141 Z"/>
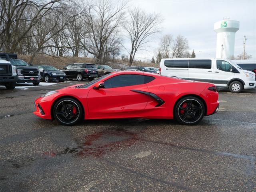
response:
<path fill-rule="evenodd" d="M 34 114 L 64 125 L 110 118 L 175 118 L 194 125 L 219 107 L 214 84 L 137 71 L 114 72 L 88 84 L 50 91 L 35 104 Z"/>

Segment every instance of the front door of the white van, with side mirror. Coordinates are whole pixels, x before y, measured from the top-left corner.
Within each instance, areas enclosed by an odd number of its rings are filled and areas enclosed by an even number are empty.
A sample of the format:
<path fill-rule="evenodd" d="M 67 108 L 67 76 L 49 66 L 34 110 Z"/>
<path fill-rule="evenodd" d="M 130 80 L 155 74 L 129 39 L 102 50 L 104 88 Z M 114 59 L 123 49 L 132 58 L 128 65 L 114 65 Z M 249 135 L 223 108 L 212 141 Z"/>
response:
<path fill-rule="evenodd" d="M 214 61 L 214 73 L 213 73 L 213 80 L 216 86 L 223 86 L 226 87 L 228 81 L 234 78 L 234 73 L 231 72 L 232 65 L 221 59 L 217 59 Z"/>

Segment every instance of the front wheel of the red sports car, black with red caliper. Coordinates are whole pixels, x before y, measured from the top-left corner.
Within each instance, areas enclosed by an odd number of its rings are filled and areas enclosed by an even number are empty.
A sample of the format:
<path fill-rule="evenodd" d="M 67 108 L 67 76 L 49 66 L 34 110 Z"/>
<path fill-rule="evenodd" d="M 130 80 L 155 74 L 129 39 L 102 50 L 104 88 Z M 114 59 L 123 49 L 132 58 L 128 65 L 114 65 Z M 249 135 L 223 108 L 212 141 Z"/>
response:
<path fill-rule="evenodd" d="M 74 112 L 75 108 L 75 112 Z M 72 98 L 62 98 L 53 108 L 54 118 L 62 125 L 74 125 L 83 117 L 81 104 Z"/>

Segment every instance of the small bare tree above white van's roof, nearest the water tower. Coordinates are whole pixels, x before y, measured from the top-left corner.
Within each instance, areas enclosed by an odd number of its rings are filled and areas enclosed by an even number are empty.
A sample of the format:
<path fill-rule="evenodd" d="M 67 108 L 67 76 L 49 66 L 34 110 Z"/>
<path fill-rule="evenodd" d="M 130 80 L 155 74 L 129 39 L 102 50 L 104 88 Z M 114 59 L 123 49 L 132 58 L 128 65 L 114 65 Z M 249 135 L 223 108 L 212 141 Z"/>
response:
<path fill-rule="evenodd" d="M 188 40 L 178 35 L 172 45 L 172 58 L 182 58 L 188 52 Z"/>

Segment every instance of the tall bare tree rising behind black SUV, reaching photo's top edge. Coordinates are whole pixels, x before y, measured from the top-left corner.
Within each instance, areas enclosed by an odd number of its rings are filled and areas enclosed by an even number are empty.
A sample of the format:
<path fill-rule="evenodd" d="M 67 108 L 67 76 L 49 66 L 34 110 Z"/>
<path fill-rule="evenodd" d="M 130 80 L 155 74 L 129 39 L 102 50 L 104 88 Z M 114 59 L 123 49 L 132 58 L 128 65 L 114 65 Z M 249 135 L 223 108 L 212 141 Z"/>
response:
<path fill-rule="evenodd" d="M 123 1 L 99 0 L 88 1 L 84 5 L 84 22 L 90 29 L 89 41 L 84 48 L 95 56 L 97 63 L 103 62 L 106 44 L 122 24 L 126 4 Z"/>

